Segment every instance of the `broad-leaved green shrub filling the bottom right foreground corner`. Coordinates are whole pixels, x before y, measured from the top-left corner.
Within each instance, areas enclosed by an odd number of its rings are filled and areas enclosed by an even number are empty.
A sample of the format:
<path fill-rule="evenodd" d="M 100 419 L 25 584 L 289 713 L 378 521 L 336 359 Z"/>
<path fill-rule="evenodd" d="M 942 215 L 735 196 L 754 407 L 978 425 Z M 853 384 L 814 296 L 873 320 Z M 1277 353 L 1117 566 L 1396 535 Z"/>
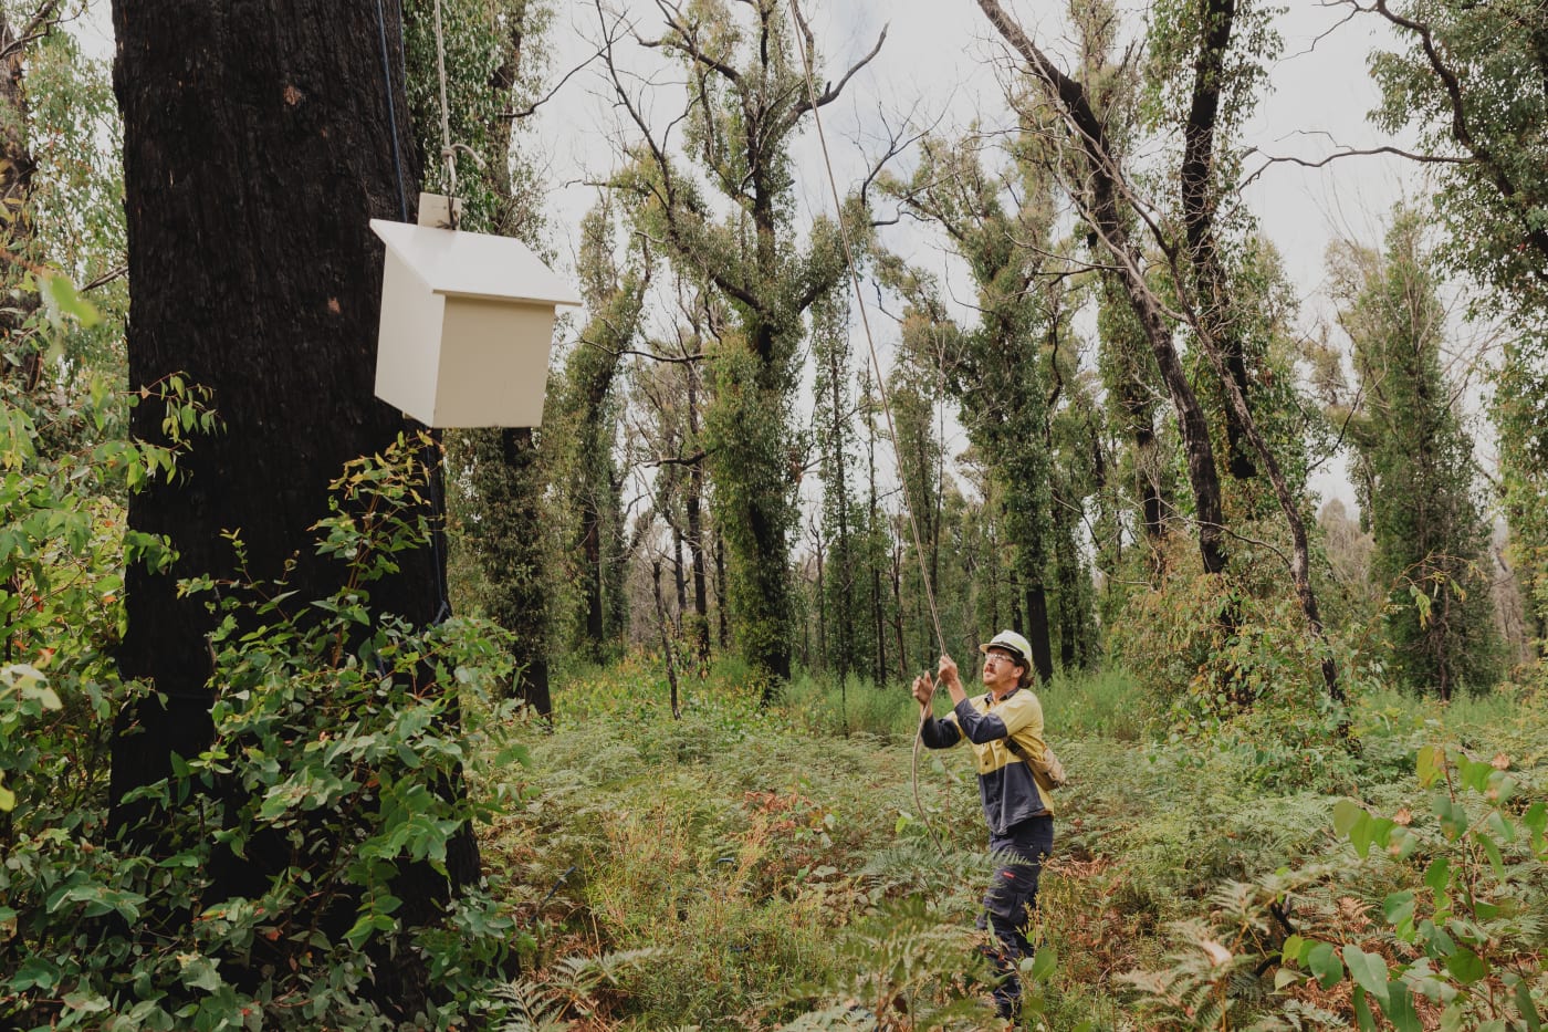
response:
<path fill-rule="evenodd" d="M 1376 942 L 1313 933 L 1285 941 L 1279 986 L 1317 978 L 1353 982 L 1361 1029 L 1381 1013 L 1395 1029 L 1418 1030 L 1420 1009 L 1440 1010 L 1441 1029 L 1539 1027 L 1548 1010 L 1542 975 L 1542 880 L 1548 809 L 1522 798 L 1503 753 L 1478 761 L 1438 745 L 1415 753 L 1429 814 L 1407 806 L 1392 817 L 1345 800 L 1334 829 L 1365 865 L 1392 868 L 1392 891 Z"/>

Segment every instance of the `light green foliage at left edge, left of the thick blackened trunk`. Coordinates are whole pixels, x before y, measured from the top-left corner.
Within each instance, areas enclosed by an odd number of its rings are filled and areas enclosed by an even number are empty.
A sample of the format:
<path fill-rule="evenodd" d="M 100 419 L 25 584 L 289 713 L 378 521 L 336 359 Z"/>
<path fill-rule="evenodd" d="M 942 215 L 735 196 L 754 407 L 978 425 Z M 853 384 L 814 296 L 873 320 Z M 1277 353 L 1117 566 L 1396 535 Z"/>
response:
<path fill-rule="evenodd" d="M 43 339 L 73 325 L 46 308 L 31 319 Z M 172 446 L 156 446 L 105 435 L 127 408 L 105 378 L 93 378 L 79 398 L 54 395 L 59 408 L 0 378 L 0 810 L 11 812 L 0 843 L 8 855 L 33 845 L 48 852 L 54 845 L 40 845 L 45 832 L 101 821 L 94 804 L 107 775 L 107 722 L 138 694 L 119 683 L 111 660 L 124 631 L 124 567 L 164 569 L 172 559 L 164 539 L 125 527 L 119 499 L 176 476 L 187 435 L 211 426 L 206 400 L 180 377 L 135 398 L 163 404 Z"/>

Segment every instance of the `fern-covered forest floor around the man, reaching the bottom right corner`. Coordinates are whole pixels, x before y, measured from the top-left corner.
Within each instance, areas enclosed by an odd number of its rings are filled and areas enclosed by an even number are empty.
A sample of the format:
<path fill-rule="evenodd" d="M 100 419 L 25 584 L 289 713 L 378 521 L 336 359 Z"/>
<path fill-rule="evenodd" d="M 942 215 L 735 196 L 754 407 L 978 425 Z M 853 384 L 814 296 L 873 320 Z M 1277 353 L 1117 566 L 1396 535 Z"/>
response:
<path fill-rule="evenodd" d="M 1336 741 L 1285 750 L 1147 730 L 1118 674 L 1039 694 L 1070 786 L 1025 1027 L 1356 1027 L 1353 961 L 1333 978 L 1313 947 L 1412 968 L 1412 925 L 1443 902 L 1421 885 L 1438 851 L 1455 851 L 1472 897 L 1542 913 L 1529 837 L 1500 841 L 1498 877 L 1486 848 L 1440 834 L 1437 783 L 1421 786 L 1416 769 L 1429 747 L 1497 758 L 1520 784 L 1508 814 L 1525 814 L 1548 784 L 1542 700 L 1364 699 L 1351 755 Z M 995 1027 L 975 953 L 989 860 L 972 767 L 963 750 L 915 759 L 906 690 L 841 696 L 802 680 L 760 708 L 721 669 L 684 682 L 673 719 L 659 666 L 633 657 L 571 679 L 556 710 L 553 733 L 525 734 L 526 765 L 481 783 L 508 800 L 485 858 L 531 934 L 512 993 L 534 1027 L 545 1015 L 574 1029 Z M 1450 796 L 1483 821 L 1475 795 L 1458 769 Z M 1365 824 L 1350 832 L 1348 800 L 1393 818 L 1382 835 L 1404 829 L 1390 849 L 1351 843 Z M 1415 848 L 1399 849 L 1409 831 Z M 1409 925 L 1406 899 L 1420 910 Z M 1486 959 L 1548 992 L 1543 928 L 1525 925 L 1494 931 Z M 1421 1029 L 1486 981 L 1443 970 L 1449 995 L 1432 1001 L 1423 978 L 1404 978 L 1415 1024 L 1395 1026 Z"/>

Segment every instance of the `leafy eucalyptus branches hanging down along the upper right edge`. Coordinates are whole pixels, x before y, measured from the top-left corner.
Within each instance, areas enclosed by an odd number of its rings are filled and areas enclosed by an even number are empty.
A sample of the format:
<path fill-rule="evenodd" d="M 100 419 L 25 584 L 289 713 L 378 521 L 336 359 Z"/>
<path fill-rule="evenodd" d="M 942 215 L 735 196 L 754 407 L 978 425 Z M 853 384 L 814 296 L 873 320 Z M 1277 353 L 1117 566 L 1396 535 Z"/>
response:
<path fill-rule="evenodd" d="M 1444 226 L 1438 259 L 1477 282 L 1471 315 L 1506 329 L 1495 366 L 1492 417 L 1498 431 L 1498 488 L 1511 527 L 1508 553 L 1528 597 L 1531 634 L 1548 628 L 1548 483 L 1543 347 L 1548 293 L 1548 172 L 1542 77 L 1548 22 L 1540 6 L 1475 8 L 1455 0 L 1402 5 L 1398 46 L 1372 57 L 1382 90 L 1382 129 L 1418 129 L 1432 153 L 1466 158 L 1433 166 L 1435 211 Z M 1539 649 L 1540 651 L 1540 649 Z"/>

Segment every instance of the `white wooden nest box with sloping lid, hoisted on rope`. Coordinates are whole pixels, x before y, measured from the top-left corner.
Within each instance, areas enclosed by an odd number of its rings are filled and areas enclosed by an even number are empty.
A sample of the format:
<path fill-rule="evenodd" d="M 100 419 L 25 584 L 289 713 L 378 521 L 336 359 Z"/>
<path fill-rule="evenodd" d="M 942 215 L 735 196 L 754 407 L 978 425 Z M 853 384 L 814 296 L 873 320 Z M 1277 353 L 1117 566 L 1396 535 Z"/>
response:
<path fill-rule="evenodd" d="M 554 307 L 580 298 L 520 240 L 372 218 L 387 245 L 376 397 L 426 426 L 540 426 Z"/>

